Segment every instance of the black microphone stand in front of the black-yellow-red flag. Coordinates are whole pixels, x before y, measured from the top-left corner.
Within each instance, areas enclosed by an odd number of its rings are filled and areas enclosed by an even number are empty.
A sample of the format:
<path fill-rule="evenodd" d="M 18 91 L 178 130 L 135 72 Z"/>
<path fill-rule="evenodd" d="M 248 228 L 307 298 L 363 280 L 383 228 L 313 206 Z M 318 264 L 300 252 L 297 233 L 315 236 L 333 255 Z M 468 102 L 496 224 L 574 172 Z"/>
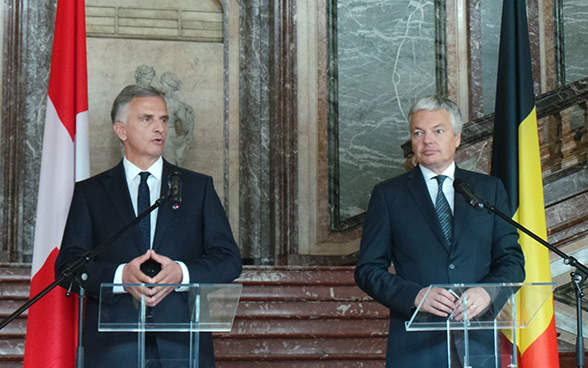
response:
<path fill-rule="evenodd" d="M 498 217 L 502 218 L 509 224 L 513 225 L 517 229 L 521 230 L 525 234 L 529 235 L 531 238 L 535 239 L 537 242 L 541 243 L 543 246 L 547 247 L 549 250 L 560 256 L 564 260 L 564 264 L 570 265 L 571 267 L 575 267 L 576 270 L 570 273 L 572 278 L 572 284 L 576 287 L 576 329 L 577 329 L 577 338 L 576 338 L 576 365 L 578 368 L 584 367 L 584 338 L 583 338 L 583 326 L 582 326 L 582 298 L 584 297 L 584 293 L 582 292 L 582 288 L 586 282 L 586 278 L 588 277 L 588 268 L 584 266 L 581 262 L 579 262 L 576 258 L 567 255 L 559 248 L 554 247 L 553 245 L 549 244 L 545 240 L 541 239 L 539 236 L 535 235 L 531 230 L 527 229 L 523 225 L 519 224 L 518 222 L 514 221 L 512 218 L 508 217 L 501 211 L 497 210 L 493 205 L 489 204 L 484 200 L 478 200 L 470 202 L 466 199 L 470 205 L 474 208 L 481 208 L 486 209 L 488 213 L 494 213 Z"/>

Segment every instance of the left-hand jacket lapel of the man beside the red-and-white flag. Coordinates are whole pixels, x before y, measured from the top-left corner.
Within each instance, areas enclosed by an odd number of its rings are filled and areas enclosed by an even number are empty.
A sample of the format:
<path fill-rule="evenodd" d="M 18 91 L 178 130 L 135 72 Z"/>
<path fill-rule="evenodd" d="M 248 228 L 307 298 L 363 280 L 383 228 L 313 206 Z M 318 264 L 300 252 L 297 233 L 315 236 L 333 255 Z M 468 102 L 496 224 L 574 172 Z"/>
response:
<path fill-rule="evenodd" d="M 133 221 L 136 218 L 135 210 L 133 210 L 133 202 L 131 202 L 122 161 L 110 170 L 109 175 L 104 180 L 104 188 L 106 194 L 112 201 L 113 207 L 122 218 L 123 226 Z M 139 226 L 133 226 L 128 232 L 133 238 L 133 242 L 137 249 L 143 253 Z"/>

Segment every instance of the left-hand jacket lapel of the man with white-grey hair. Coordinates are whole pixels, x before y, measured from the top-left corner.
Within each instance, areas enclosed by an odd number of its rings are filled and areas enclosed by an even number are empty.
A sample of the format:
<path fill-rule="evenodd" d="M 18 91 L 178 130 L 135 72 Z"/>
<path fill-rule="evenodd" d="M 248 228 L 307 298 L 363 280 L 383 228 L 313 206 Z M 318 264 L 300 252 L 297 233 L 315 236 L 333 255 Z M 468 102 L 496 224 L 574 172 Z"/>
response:
<path fill-rule="evenodd" d="M 439 242 L 443 245 L 443 248 L 449 252 L 449 244 L 447 244 L 447 239 L 445 239 L 445 234 L 443 234 L 443 229 L 439 223 L 437 212 L 435 212 L 435 206 L 431 201 L 431 195 L 429 194 L 429 189 L 427 188 L 427 184 L 425 184 L 425 179 L 420 168 L 414 168 L 409 173 L 406 184 L 408 186 L 409 192 L 414 198 L 414 201 L 425 217 L 427 225 L 431 228 L 431 231 L 433 231 Z"/>

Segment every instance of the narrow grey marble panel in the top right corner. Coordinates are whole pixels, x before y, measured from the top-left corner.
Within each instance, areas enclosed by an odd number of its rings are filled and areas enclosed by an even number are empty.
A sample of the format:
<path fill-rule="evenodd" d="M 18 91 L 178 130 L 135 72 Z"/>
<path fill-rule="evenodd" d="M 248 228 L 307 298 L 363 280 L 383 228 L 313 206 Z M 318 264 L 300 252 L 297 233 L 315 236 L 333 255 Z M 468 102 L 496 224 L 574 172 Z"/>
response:
<path fill-rule="evenodd" d="M 588 76 L 588 2 L 560 1 L 563 2 L 565 83 L 571 83 Z"/>

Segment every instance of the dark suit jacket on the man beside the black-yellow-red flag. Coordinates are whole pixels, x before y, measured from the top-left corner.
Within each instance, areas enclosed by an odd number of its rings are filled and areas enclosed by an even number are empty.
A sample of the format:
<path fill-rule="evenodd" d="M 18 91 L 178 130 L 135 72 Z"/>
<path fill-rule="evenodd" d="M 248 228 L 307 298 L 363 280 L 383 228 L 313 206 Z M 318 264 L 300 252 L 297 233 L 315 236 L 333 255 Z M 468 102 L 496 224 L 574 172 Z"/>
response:
<path fill-rule="evenodd" d="M 458 168 L 455 178 L 466 180 L 480 197 L 511 214 L 500 180 Z M 524 257 L 516 229 L 495 215 L 476 211 L 457 193 L 452 243 L 450 248 L 419 167 L 376 185 L 363 228 L 355 280 L 362 290 L 390 308 L 387 367 L 447 365 L 445 332 L 405 330 L 404 322 L 410 318 L 423 287 L 524 280 Z M 391 262 L 396 274 L 388 272 Z M 470 348 L 472 342 L 476 348 L 476 339 L 488 338 L 491 335 L 470 334 Z M 491 346 L 492 340 L 489 343 Z"/>

